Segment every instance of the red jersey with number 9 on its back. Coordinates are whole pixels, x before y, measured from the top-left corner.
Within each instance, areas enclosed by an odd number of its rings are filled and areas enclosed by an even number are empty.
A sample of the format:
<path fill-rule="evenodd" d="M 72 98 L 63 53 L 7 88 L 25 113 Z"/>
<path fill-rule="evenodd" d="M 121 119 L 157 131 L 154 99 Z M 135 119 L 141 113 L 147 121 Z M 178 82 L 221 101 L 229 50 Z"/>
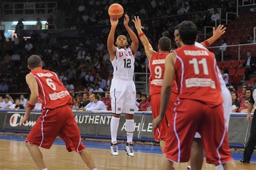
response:
<path fill-rule="evenodd" d="M 156 52 L 150 58 L 150 95 L 161 93 L 164 82 L 165 58 L 169 52 Z M 172 91 L 178 91 L 176 81 L 173 81 Z"/>

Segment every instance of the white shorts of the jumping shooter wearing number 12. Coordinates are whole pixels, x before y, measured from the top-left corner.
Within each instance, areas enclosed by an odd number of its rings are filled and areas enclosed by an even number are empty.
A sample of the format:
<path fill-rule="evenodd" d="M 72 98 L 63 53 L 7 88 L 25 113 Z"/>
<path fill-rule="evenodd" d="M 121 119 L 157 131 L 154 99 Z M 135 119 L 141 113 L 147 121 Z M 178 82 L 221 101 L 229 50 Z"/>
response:
<path fill-rule="evenodd" d="M 133 80 L 113 78 L 110 87 L 112 113 L 134 114 L 136 87 Z"/>

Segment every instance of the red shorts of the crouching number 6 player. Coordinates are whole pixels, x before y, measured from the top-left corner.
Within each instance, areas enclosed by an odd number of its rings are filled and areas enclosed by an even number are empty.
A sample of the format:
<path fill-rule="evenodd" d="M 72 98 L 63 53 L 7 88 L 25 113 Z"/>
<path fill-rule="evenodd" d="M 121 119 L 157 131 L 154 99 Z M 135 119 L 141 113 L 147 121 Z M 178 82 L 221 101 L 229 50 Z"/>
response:
<path fill-rule="evenodd" d="M 81 152 L 85 149 L 73 112 L 68 105 L 43 111 L 26 141 L 30 145 L 49 149 L 57 135 L 64 140 L 69 152 Z"/>

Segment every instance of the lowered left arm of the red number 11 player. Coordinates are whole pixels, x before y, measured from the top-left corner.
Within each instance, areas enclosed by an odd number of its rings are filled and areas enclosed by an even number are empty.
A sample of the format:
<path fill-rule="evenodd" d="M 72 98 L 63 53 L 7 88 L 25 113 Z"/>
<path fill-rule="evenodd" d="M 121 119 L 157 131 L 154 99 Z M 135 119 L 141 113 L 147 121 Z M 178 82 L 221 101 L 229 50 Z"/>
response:
<path fill-rule="evenodd" d="M 160 104 L 160 114 L 153 120 L 152 126 L 156 128 L 158 124 L 163 120 L 166 107 L 169 103 L 170 93 L 172 89 L 172 83 L 174 79 L 174 59 L 175 53 L 172 52 L 165 59 L 165 73 L 164 73 L 164 83 L 161 90 L 161 104 Z"/>

